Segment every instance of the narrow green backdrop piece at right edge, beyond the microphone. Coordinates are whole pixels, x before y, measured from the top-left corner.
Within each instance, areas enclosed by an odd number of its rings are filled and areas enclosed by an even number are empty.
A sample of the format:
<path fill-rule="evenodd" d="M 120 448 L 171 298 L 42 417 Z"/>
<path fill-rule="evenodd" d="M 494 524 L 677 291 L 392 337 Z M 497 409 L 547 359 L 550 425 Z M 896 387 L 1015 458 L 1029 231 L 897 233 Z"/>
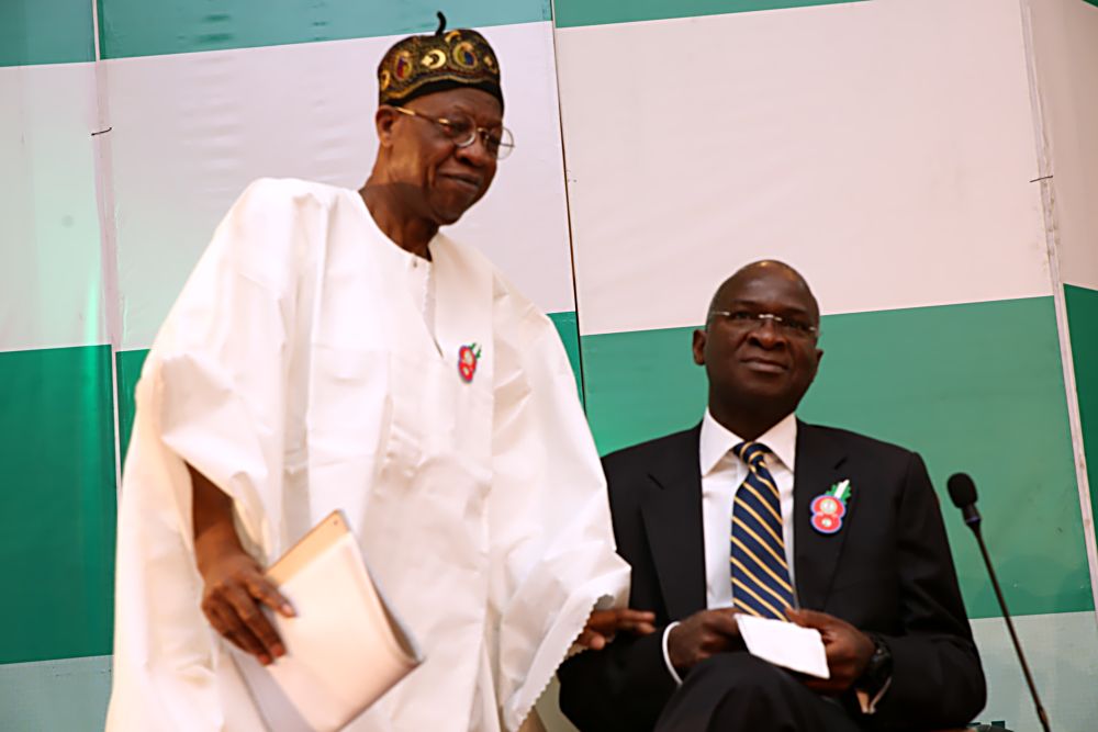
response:
<path fill-rule="evenodd" d="M 1096 0 L 1098 4 L 1098 0 Z M 1064 285 L 1090 500 L 1098 518 L 1098 291 Z"/>

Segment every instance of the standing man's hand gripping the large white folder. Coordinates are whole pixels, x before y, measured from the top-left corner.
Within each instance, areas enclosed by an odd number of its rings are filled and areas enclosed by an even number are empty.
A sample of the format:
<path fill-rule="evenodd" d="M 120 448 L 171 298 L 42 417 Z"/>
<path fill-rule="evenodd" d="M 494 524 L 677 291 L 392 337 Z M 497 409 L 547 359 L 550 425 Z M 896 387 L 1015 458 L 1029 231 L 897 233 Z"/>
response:
<path fill-rule="evenodd" d="M 228 550 L 202 564 L 202 612 L 214 630 L 264 665 L 285 655 L 282 639 L 260 604 L 287 618 L 293 617 L 293 607 L 256 561 L 242 550 Z"/>

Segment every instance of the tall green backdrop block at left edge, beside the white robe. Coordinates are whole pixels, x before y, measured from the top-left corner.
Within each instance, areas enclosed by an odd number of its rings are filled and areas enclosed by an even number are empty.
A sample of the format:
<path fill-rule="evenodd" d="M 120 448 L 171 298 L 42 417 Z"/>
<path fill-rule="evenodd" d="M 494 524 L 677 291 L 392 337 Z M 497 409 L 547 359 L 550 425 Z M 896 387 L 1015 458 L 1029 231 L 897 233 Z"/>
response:
<path fill-rule="evenodd" d="M 0 353 L 0 663 L 111 652 L 108 346 Z"/>

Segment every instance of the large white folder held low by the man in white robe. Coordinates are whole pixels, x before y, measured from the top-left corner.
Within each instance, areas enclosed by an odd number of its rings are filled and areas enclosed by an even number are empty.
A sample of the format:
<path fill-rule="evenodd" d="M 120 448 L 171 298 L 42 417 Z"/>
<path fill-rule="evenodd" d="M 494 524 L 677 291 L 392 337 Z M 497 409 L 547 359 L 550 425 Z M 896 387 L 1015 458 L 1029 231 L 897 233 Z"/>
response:
<path fill-rule="evenodd" d="M 271 729 L 339 730 L 423 662 L 370 578 L 340 511 L 306 533 L 267 576 L 296 611 L 294 618 L 273 616 L 287 654 L 264 674 L 256 673 L 258 664 L 245 671 Z M 290 717 L 300 719 L 290 723 Z"/>

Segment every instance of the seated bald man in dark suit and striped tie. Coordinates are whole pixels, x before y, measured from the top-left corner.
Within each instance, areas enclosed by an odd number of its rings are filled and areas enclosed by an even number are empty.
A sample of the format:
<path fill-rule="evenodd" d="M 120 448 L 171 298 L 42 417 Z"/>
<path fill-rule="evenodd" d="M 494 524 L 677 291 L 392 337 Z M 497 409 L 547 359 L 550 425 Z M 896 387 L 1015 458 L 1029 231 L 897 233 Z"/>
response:
<path fill-rule="evenodd" d="M 744 267 L 694 334 L 703 423 L 604 460 L 629 606 L 658 630 L 561 667 L 561 709 L 584 732 L 933 730 L 983 708 L 921 458 L 794 416 L 818 330 L 796 271 Z M 818 629 L 830 678 L 748 654 L 741 612 Z"/>

